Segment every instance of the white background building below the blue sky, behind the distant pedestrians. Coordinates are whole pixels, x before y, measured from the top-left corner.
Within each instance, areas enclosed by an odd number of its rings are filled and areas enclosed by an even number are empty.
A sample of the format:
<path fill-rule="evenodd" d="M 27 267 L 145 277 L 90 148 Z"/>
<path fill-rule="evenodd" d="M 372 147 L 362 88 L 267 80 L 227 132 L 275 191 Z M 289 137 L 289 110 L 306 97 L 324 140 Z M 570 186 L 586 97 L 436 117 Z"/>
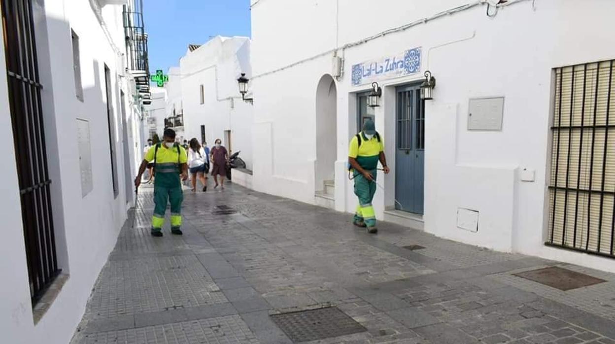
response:
<path fill-rule="evenodd" d="M 207 143 L 216 138 L 239 156 L 252 169 L 252 105 L 243 102 L 237 86 L 240 73 L 250 78 L 250 39 L 216 36 L 180 60 L 181 99 L 184 109 L 186 139 L 200 141 L 200 126 L 205 126 Z M 200 103 L 200 85 L 204 87 L 204 103 Z M 231 130 L 231 144 L 225 130 Z"/>

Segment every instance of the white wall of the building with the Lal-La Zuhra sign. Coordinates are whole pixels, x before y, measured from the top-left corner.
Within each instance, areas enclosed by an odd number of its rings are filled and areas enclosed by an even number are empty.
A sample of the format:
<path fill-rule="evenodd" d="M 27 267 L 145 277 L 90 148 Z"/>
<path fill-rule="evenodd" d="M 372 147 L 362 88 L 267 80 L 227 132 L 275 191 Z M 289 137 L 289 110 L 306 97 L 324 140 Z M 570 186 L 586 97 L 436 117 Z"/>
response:
<path fill-rule="evenodd" d="M 352 65 L 422 48 L 421 72 L 379 81 L 381 106 L 376 129 L 383 134 L 389 167 L 395 170 L 395 88 L 437 78 L 434 100 L 426 102 L 424 180 L 425 230 L 469 244 L 539 255 L 615 271 L 612 260 L 544 246 L 547 165 L 552 105 L 552 68 L 615 58 L 610 34 L 615 24 L 606 1 L 509 1 L 494 18 L 475 6 L 424 20 L 466 4 L 466 0 L 258 2 L 252 7 L 250 87 L 255 98 L 253 186 L 256 190 L 314 202 L 315 94 L 330 74 L 336 47 L 344 57 L 337 87 L 335 207 L 354 212 L 356 198 L 347 180 L 347 145 L 357 132 Z M 338 15 L 336 15 L 338 14 Z M 418 21 L 395 33 L 379 33 Z M 611 30 L 609 30 L 611 29 Z M 375 39 L 368 39 L 379 35 Z M 588 39 L 591 38 L 591 39 Z M 284 42 L 280 44 L 280 42 Z M 275 57 L 275 58 L 272 58 Z M 469 98 L 504 96 L 501 132 L 466 129 Z M 535 182 L 521 182 L 519 170 L 536 170 Z M 373 204 L 378 218 L 394 207 L 394 173 L 378 175 Z M 456 226 L 458 207 L 480 211 L 478 233 Z"/>

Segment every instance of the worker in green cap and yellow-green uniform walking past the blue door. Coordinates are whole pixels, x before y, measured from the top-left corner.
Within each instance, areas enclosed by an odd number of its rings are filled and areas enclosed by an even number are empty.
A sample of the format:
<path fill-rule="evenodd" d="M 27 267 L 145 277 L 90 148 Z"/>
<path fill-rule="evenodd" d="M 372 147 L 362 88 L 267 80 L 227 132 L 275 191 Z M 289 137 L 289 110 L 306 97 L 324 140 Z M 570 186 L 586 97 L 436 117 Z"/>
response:
<path fill-rule="evenodd" d="M 376 214 L 371 200 L 376 193 L 376 172 L 378 161 L 383 165 L 385 174 L 389 173 L 384 156 L 384 142 L 376 132 L 371 120 L 365 121 L 363 130 L 355 135 L 348 152 L 348 162 L 354 179 L 354 194 L 359 198 L 359 205 L 354 214 L 354 225 L 367 227 L 368 233 L 376 233 Z"/>

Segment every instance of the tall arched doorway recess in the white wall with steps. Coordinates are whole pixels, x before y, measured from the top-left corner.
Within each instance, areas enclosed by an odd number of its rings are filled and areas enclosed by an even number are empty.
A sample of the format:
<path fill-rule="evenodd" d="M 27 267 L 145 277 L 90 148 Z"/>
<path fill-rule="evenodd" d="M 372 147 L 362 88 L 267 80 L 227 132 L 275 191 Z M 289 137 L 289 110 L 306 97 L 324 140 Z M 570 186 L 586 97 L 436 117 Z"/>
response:
<path fill-rule="evenodd" d="M 315 190 L 333 197 L 337 154 L 337 97 L 335 81 L 329 74 L 320 78 L 316 89 Z"/>

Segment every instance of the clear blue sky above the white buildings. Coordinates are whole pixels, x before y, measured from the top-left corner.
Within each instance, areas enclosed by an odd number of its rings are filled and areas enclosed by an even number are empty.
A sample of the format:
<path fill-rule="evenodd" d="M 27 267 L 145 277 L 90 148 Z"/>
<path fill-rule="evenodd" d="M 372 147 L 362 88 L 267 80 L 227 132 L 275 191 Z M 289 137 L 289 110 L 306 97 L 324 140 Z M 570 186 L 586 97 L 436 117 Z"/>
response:
<path fill-rule="evenodd" d="M 179 66 L 188 44 L 250 36 L 250 0 L 143 0 L 149 70 Z"/>

